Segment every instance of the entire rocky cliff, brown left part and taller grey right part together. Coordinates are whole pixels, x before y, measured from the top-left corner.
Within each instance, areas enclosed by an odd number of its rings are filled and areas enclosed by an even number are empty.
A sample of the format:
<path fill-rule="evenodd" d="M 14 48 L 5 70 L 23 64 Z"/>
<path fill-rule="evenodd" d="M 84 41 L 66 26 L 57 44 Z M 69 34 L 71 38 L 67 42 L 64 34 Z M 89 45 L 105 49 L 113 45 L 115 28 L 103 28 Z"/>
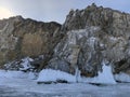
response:
<path fill-rule="evenodd" d="M 130 74 L 130 14 L 93 3 L 72 10 L 62 27 L 21 16 L 0 20 L 1 64 L 39 55 L 40 69 L 79 69 L 83 77 L 95 77 L 105 64 L 113 73 Z"/>

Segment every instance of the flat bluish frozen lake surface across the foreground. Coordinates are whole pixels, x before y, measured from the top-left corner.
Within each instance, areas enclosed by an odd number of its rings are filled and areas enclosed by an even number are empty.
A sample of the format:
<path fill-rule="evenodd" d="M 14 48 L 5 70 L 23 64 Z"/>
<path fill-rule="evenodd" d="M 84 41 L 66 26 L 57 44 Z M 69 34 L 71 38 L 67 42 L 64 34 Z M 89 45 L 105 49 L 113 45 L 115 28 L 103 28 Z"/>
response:
<path fill-rule="evenodd" d="M 34 80 L 0 80 L 0 97 L 130 97 L 130 84 L 37 84 Z"/>

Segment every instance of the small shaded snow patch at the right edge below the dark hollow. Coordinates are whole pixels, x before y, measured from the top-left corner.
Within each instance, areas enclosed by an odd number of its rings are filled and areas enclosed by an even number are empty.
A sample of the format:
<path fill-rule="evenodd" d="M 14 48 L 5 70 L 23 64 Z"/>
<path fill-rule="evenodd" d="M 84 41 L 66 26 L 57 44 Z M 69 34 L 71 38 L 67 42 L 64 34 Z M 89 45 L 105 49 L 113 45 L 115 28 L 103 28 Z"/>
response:
<path fill-rule="evenodd" d="M 130 75 L 123 72 L 120 72 L 119 74 L 115 74 L 116 81 L 120 82 L 130 82 Z"/>

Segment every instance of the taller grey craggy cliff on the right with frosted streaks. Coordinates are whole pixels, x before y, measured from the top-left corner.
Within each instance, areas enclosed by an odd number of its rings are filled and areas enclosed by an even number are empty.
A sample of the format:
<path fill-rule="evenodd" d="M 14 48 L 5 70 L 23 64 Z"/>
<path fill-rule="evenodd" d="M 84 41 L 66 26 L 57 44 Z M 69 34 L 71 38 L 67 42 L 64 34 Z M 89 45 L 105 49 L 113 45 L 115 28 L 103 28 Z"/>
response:
<path fill-rule="evenodd" d="M 78 67 L 81 75 L 95 77 L 104 61 L 114 73 L 130 74 L 130 14 L 95 4 L 72 10 L 62 32 L 47 68 L 75 73 Z"/>

